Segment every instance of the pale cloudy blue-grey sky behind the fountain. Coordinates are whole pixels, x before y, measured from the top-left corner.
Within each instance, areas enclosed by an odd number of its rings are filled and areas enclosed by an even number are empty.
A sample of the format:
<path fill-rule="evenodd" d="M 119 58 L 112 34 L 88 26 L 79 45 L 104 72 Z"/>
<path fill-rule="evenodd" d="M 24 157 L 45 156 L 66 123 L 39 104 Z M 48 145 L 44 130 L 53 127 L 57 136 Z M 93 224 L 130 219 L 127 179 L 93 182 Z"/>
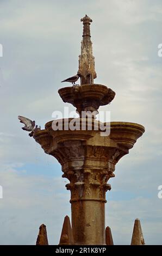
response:
<path fill-rule="evenodd" d="M 95 82 L 116 92 L 100 110 L 111 111 L 111 121 L 146 129 L 109 180 L 106 224 L 115 244 L 129 245 L 139 218 L 146 244 L 162 245 L 161 0 L 0 0 L 1 245 L 34 245 L 42 223 L 49 243 L 58 244 L 70 216 L 60 164 L 28 137 L 17 115 L 43 127 L 53 111 L 68 106 L 58 89 L 78 70 L 85 14 L 93 20 Z"/>

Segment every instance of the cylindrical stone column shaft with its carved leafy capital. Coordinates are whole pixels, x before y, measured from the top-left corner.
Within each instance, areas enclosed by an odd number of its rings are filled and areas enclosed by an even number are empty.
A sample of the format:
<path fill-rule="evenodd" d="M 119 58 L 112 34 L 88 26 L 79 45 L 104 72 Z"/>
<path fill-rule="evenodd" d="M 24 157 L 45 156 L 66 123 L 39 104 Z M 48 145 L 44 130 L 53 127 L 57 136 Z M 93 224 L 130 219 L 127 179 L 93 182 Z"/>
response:
<path fill-rule="evenodd" d="M 111 188 L 108 171 L 80 168 L 63 176 L 70 180 L 66 187 L 71 191 L 74 244 L 105 245 L 105 192 Z"/>

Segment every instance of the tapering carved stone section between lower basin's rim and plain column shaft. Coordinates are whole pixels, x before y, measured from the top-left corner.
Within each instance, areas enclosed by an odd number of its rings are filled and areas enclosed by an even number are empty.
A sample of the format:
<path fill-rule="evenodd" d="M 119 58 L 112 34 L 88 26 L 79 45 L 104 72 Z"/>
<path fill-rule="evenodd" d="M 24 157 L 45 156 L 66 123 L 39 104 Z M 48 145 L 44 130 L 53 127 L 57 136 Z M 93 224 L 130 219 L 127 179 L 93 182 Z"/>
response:
<path fill-rule="evenodd" d="M 115 176 L 115 164 L 126 154 L 122 149 L 84 145 L 82 141 L 66 141 L 54 152 L 62 164 L 63 177 L 70 181 L 66 188 L 71 191 L 71 202 L 80 199 L 104 201 L 105 192 L 111 189 L 107 182 Z"/>

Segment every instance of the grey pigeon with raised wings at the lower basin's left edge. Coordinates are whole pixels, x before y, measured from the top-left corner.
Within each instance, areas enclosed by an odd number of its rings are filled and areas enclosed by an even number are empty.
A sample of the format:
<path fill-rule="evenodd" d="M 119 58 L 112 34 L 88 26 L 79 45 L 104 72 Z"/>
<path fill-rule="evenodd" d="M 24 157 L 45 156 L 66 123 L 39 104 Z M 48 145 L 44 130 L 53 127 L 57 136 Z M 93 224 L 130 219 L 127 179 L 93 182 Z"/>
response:
<path fill-rule="evenodd" d="M 22 117 L 21 115 L 18 115 L 18 119 L 20 120 L 20 123 L 25 125 L 24 127 L 22 127 L 22 130 L 29 131 L 30 137 L 33 136 L 34 132 L 41 130 L 40 126 L 39 127 L 38 127 L 38 125 L 35 126 L 35 121 L 32 121 L 29 118 Z"/>

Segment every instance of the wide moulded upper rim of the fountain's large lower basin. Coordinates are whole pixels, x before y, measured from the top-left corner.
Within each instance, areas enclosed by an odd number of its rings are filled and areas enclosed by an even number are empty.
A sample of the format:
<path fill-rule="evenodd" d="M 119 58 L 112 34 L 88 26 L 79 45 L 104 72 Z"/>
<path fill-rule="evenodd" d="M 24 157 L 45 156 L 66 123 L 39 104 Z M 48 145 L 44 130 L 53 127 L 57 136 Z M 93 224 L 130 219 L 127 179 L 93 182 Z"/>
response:
<path fill-rule="evenodd" d="M 63 119 L 63 130 L 54 131 L 52 129 L 52 122 L 46 123 L 45 130 L 34 133 L 34 139 L 38 142 L 45 153 L 50 154 L 53 146 L 57 148 L 58 143 L 65 141 L 84 141 L 87 145 L 96 145 L 100 147 L 121 147 L 123 149 L 133 148 L 136 140 L 145 132 L 144 126 L 136 123 L 128 122 L 111 122 L 110 135 L 101 136 L 101 129 L 99 125 L 101 122 L 92 120 L 92 130 L 88 130 L 88 121 L 86 119 L 85 130 L 64 130 L 64 127 L 71 122 L 72 118 Z M 81 124 L 83 119 L 76 118 L 76 121 Z M 105 123 L 103 124 L 105 126 Z M 98 129 L 97 129 L 98 127 Z M 80 129 L 82 129 L 80 125 Z M 95 130 L 96 129 L 96 130 Z"/>

